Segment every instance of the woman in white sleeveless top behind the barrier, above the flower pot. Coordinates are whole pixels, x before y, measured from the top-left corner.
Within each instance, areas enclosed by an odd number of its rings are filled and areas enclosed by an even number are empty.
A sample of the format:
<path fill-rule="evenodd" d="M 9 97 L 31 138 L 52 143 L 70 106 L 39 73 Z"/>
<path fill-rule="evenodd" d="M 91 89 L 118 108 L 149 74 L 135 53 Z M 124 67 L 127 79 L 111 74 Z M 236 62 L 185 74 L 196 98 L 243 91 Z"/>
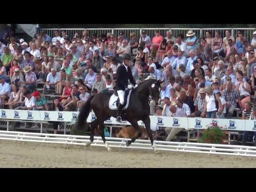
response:
<path fill-rule="evenodd" d="M 206 87 L 206 96 L 205 96 L 205 101 L 204 101 L 204 111 L 203 111 L 203 116 L 206 114 L 206 118 L 215 118 L 216 113 L 218 112 L 217 107 L 216 107 L 216 102 L 215 102 L 215 97 L 218 102 L 218 107 L 219 109 L 221 108 L 221 102 L 220 98 L 217 95 L 213 95 L 212 88 L 211 87 Z"/>

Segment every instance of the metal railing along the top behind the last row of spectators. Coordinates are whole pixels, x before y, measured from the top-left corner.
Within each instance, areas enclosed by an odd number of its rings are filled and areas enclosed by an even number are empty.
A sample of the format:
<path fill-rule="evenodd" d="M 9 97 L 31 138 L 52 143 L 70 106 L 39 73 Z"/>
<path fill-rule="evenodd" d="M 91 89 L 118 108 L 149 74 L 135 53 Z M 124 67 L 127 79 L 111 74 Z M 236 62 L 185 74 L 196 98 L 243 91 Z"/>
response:
<path fill-rule="evenodd" d="M 177 37 L 178 34 L 184 34 L 184 37 L 186 37 L 186 34 L 188 30 L 193 30 L 195 32 L 196 36 L 198 38 L 205 37 L 206 30 L 209 30 L 212 32 L 212 37 L 215 36 L 215 31 L 220 31 L 220 37 L 224 38 L 226 30 L 230 30 L 231 35 L 236 39 L 237 32 L 241 31 L 244 33 L 245 38 L 248 41 L 252 40 L 253 32 L 256 30 L 256 28 L 42 28 L 40 30 L 46 31 L 46 33 L 54 37 L 54 30 L 66 30 L 67 35 L 72 39 L 74 38 L 75 32 L 78 32 L 80 34 L 80 38 L 82 38 L 82 34 L 84 30 L 88 30 L 89 37 L 92 38 L 92 34 L 96 34 L 97 36 L 100 36 L 101 34 L 107 34 L 108 32 L 111 32 L 115 36 L 118 36 L 120 32 L 124 32 L 124 36 L 126 38 L 130 38 L 130 33 L 135 32 L 136 38 L 140 37 L 141 32 L 144 30 L 148 36 L 152 39 L 154 37 L 154 33 L 156 30 L 160 31 L 160 34 L 162 36 L 166 36 L 166 32 L 171 30 L 172 35 L 174 37 Z M 26 42 L 29 42 L 32 40 L 32 38 L 28 35 L 25 37 Z"/>

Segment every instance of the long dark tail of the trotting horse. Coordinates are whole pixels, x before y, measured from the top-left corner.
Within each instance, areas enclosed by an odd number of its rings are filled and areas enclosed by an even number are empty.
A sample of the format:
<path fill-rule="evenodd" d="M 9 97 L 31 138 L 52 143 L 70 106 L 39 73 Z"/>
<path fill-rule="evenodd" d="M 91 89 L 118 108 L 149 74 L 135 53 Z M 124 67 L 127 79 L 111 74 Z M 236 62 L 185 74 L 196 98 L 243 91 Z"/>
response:
<path fill-rule="evenodd" d="M 86 102 L 85 104 L 82 106 L 78 118 L 77 118 L 77 122 L 76 122 L 76 127 L 78 130 L 84 130 L 85 128 L 85 123 L 86 120 L 88 118 L 88 115 L 90 114 L 90 107 L 91 107 L 91 101 L 94 98 L 94 95 L 92 95 Z"/>

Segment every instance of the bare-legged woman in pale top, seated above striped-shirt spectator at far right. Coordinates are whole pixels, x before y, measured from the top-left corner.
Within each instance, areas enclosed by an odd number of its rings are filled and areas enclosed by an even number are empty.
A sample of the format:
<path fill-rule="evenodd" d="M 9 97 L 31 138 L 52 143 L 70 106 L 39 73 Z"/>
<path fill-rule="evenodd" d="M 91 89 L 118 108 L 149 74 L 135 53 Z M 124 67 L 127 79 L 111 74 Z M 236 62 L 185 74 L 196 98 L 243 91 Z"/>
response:
<path fill-rule="evenodd" d="M 243 81 L 243 76 L 240 74 L 236 74 L 237 82 L 235 83 L 236 85 L 236 90 L 239 93 L 242 108 L 244 108 L 244 104 L 247 101 L 251 100 L 250 93 L 251 93 L 251 87 L 248 82 Z"/>

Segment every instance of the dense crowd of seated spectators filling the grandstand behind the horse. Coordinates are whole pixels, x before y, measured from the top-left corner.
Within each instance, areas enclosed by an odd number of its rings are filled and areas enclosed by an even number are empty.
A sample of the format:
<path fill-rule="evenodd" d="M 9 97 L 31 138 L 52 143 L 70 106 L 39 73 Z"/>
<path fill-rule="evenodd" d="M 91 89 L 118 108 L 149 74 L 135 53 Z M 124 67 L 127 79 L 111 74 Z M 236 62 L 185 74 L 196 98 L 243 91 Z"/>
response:
<path fill-rule="evenodd" d="M 113 92 L 122 55 L 130 54 L 129 66 L 137 84 L 146 79 L 162 80 L 160 106 L 150 101 L 150 113 L 173 117 L 231 118 L 243 110 L 243 118 L 254 118 L 251 95 L 256 90 L 256 32 L 249 42 L 242 31 L 238 37 L 220 37 L 206 31 L 199 39 L 189 30 L 166 37 L 155 31 L 150 38 L 142 31 L 137 39 L 120 32 L 89 37 L 84 30 L 74 38 L 62 30 L 50 37 L 42 31 L 30 42 L 10 38 L 0 43 L 0 108 L 79 111 L 90 95 Z M 36 90 L 45 82 L 43 96 Z M 44 95 L 58 96 L 52 107 Z M 56 103 L 54 103 L 56 102 Z M 159 112 L 162 110 L 162 113 Z M 156 129 L 156 128 L 152 128 Z M 180 129 L 166 128 L 167 140 Z"/>

